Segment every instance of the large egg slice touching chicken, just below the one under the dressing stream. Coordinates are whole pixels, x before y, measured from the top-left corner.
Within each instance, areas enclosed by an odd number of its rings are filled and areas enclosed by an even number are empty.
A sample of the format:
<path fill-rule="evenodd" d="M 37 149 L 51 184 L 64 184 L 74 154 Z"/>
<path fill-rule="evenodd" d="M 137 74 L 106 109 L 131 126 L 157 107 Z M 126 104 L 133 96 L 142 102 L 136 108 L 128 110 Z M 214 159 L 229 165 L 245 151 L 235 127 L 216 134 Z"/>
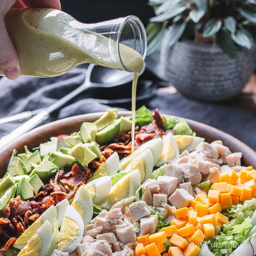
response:
<path fill-rule="evenodd" d="M 113 204 L 120 200 L 135 195 L 139 185 L 140 172 L 136 169 L 120 178 L 120 180 L 111 187 L 110 193 L 104 203 L 101 204 L 101 207 L 104 209 L 110 209 Z"/>

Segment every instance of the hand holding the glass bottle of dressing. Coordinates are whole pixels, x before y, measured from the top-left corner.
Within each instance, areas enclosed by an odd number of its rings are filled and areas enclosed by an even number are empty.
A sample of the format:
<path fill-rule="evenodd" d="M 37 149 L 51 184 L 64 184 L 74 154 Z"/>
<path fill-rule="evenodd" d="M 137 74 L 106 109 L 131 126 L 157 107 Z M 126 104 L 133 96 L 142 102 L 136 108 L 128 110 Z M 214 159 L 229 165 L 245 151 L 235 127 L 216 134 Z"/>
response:
<path fill-rule="evenodd" d="M 53 8 L 61 9 L 59 0 L 0 0 L 0 70 L 9 79 L 20 75 L 17 52 L 5 27 L 5 14 L 10 8 Z"/>

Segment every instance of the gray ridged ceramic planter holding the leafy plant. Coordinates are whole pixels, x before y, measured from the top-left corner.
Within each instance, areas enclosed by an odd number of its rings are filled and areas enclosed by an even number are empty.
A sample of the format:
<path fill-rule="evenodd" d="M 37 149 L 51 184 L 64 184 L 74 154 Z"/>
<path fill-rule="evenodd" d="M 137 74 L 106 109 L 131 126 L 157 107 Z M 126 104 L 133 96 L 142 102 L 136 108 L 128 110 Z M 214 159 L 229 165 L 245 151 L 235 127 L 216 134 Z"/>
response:
<path fill-rule="evenodd" d="M 232 98 L 253 73 L 255 55 L 248 50 L 237 51 L 236 59 L 230 59 L 218 46 L 212 53 L 212 44 L 183 41 L 168 49 L 165 38 L 160 50 L 165 74 L 185 96 L 203 101 Z"/>

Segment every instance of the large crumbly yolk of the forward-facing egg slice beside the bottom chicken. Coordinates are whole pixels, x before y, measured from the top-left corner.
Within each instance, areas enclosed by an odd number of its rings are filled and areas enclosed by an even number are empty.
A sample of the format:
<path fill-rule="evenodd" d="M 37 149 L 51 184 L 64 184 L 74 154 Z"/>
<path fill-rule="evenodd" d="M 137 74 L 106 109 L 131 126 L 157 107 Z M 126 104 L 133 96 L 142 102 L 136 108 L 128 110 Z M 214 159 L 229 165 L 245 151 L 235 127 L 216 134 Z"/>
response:
<path fill-rule="evenodd" d="M 58 246 L 59 249 L 65 250 L 80 234 L 78 224 L 70 218 L 63 219 L 61 230 L 59 232 Z"/>

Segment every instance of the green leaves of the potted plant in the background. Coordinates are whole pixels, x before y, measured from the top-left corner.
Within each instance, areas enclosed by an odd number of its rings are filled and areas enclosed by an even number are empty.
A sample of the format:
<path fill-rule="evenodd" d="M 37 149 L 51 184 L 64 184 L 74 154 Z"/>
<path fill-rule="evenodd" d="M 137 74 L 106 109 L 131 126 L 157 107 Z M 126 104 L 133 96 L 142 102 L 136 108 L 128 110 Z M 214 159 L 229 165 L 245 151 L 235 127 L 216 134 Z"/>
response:
<path fill-rule="evenodd" d="M 237 47 L 254 48 L 256 39 L 256 0 L 149 0 L 154 9 L 146 28 L 150 55 L 170 27 L 167 47 L 178 40 L 212 42 L 230 58 Z"/>

